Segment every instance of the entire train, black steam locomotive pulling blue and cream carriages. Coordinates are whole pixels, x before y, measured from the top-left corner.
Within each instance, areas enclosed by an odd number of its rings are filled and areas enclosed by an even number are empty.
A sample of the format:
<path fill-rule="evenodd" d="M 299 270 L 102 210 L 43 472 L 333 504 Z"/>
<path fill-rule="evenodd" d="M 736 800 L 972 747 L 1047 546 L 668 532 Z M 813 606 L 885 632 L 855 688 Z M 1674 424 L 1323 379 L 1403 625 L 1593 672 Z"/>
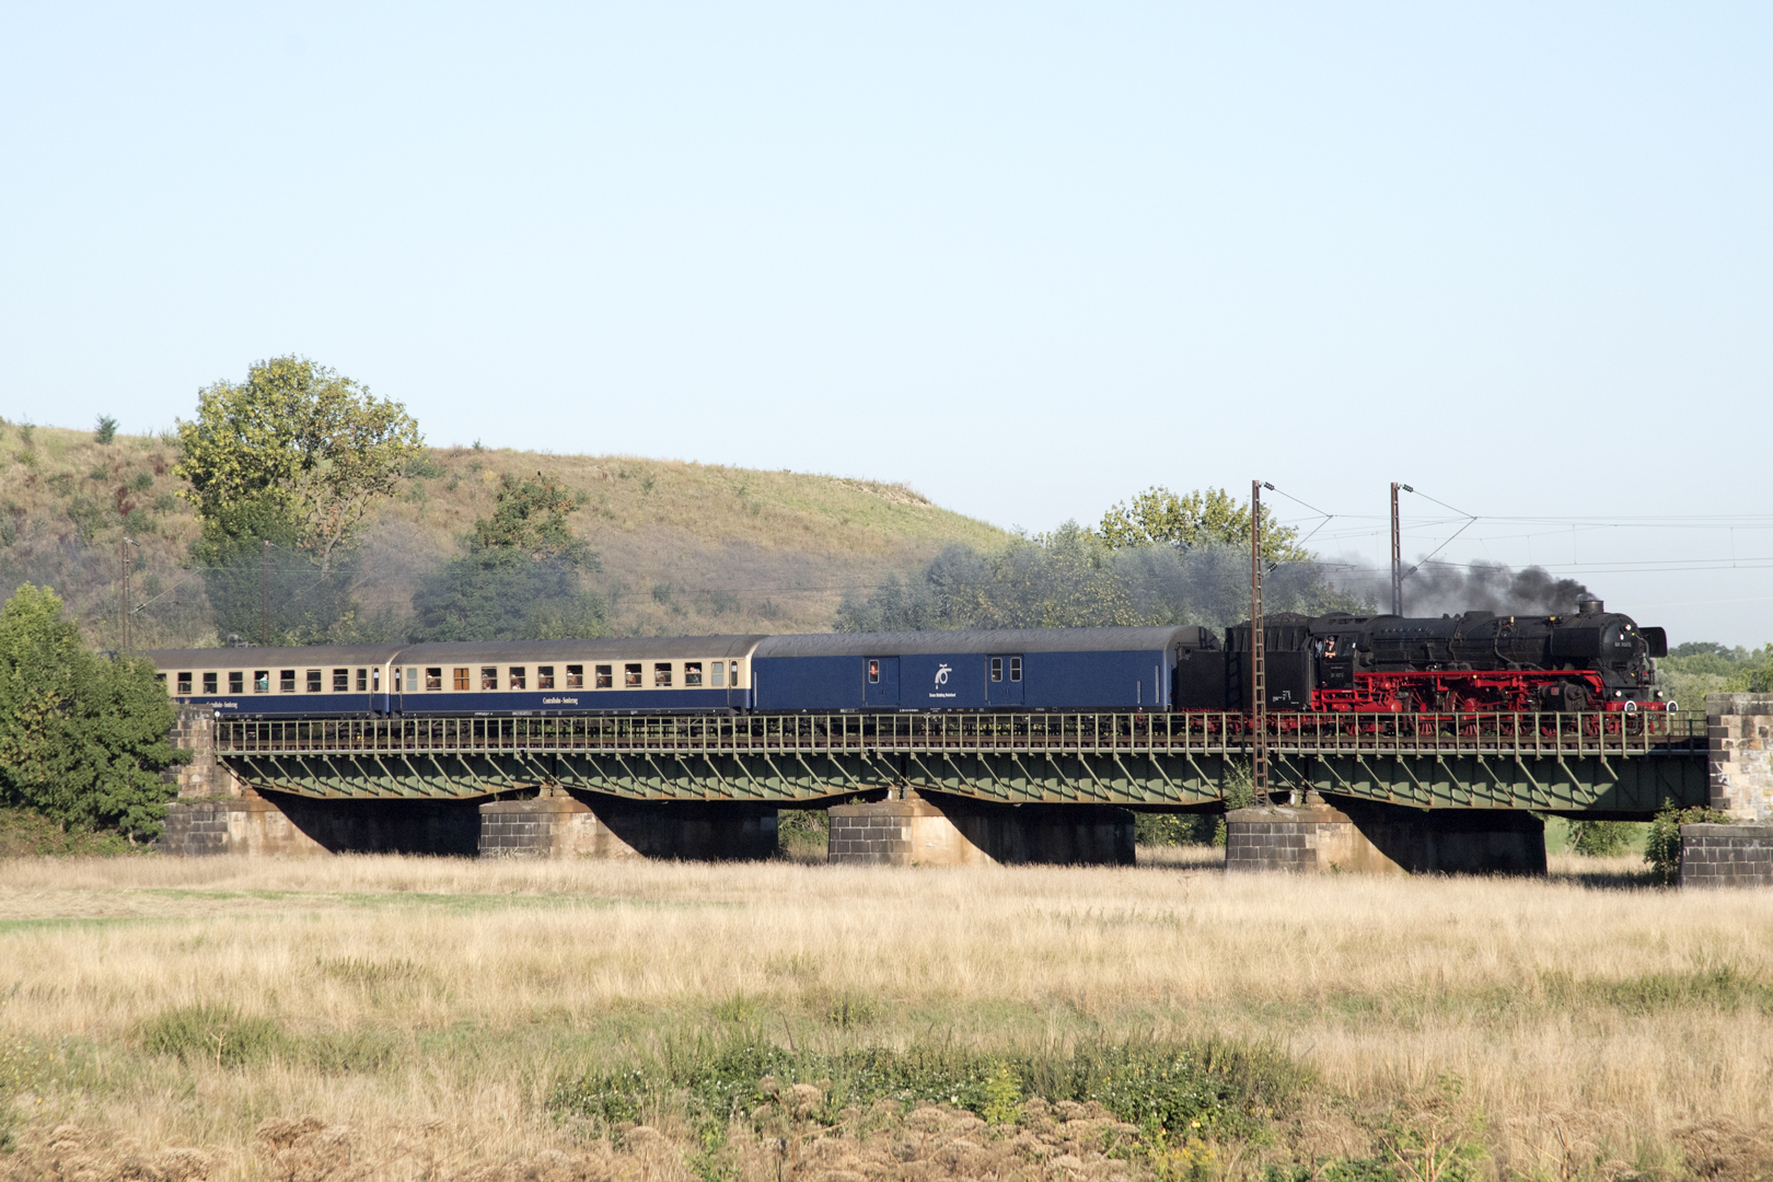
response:
<path fill-rule="evenodd" d="M 1264 617 L 1269 711 L 1670 711 L 1660 627 L 1573 615 Z M 626 636 L 147 656 L 181 704 L 239 718 L 1245 711 L 1250 624 Z"/>

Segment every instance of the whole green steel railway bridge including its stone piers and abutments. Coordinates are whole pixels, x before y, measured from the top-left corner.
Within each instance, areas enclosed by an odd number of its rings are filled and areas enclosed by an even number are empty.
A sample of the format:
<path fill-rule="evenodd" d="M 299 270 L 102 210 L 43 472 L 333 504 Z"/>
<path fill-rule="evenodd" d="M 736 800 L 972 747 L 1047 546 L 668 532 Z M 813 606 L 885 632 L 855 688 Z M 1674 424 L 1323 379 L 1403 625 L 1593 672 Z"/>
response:
<path fill-rule="evenodd" d="M 1544 865 L 1535 813 L 1730 806 L 1732 769 L 1736 810 L 1764 813 L 1773 792 L 1750 783 L 1766 767 L 1750 732 L 1764 732 L 1755 711 L 1773 714 L 1773 696 L 1707 705 L 1707 716 L 1273 714 L 1262 735 L 1236 712 L 269 721 L 193 711 L 181 744 L 197 760 L 167 845 L 759 856 L 775 849 L 778 808 L 833 806 L 839 861 L 1126 861 L 1128 810 L 1250 803 L 1261 737 L 1273 803 L 1230 813 L 1230 865 L 1532 870 Z"/>

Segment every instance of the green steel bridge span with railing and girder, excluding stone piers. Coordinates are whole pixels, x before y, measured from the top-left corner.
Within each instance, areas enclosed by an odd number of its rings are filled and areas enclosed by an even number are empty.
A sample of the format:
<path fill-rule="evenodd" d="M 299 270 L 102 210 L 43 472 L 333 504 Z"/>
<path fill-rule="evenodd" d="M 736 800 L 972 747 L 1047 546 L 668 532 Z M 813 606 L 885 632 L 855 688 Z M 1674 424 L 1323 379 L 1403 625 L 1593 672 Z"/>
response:
<path fill-rule="evenodd" d="M 771 714 L 216 719 L 257 787 L 470 797 L 537 785 L 635 799 L 807 801 L 915 785 L 1005 803 L 1190 806 L 1254 750 L 1243 714 Z M 1271 714 L 1277 787 L 1422 808 L 1642 815 L 1704 803 L 1706 719 Z"/>

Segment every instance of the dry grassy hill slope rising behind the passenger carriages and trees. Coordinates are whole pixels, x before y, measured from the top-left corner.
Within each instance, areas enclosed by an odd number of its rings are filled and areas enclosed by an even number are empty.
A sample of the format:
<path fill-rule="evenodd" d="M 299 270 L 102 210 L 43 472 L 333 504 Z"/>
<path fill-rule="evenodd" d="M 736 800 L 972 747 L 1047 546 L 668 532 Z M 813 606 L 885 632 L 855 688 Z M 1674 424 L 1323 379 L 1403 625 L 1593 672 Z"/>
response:
<path fill-rule="evenodd" d="M 89 640 L 119 640 L 119 548 L 140 542 L 135 643 L 215 643 L 188 571 L 197 516 L 176 493 L 161 436 L 99 445 L 90 431 L 0 427 L 0 588 L 48 583 Z M 846 588 L 931 558 L 949 542 L 996 546 L 996 526 L 899 484 L 626 455 L 433 448 L 363 533 L 365 611 L 404 613 L 417 578 L 459 553 L 491 512 L 500 473 L 558 477 L 587 494 L 574 514 L 598 551 L 619 633 L 824 631 Z"/>

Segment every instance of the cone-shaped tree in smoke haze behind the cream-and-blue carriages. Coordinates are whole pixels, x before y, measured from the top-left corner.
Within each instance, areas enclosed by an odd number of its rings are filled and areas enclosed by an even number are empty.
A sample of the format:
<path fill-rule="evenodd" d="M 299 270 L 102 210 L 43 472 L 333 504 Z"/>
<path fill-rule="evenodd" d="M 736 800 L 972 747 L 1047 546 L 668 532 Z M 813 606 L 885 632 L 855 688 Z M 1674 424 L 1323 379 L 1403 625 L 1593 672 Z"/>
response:
<path fill-rule="evenodd" d="M 413 592 L 415 640 L 569 640 L 606 636 L 608 604 L 585 587 L 598 556 L 573 533 L 585 496 L 553 477 L 505 475 L 468 553 Z"/>

